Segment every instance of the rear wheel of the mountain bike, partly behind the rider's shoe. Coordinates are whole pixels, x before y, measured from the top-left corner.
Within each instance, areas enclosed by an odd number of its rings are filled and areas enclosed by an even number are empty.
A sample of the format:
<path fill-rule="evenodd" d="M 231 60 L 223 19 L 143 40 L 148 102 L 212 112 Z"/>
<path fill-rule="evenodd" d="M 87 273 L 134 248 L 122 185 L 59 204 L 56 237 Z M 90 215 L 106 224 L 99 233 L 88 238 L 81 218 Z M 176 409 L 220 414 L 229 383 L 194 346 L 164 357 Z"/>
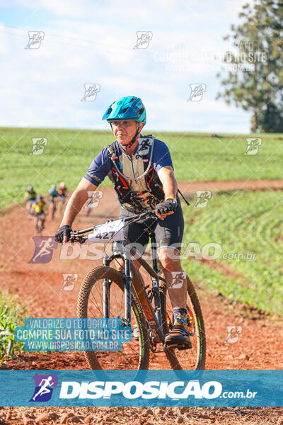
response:
<path fill-rule="evenodd" d="M 160 284 L 161 294 L 161 317 L 163 324 L 163 334 L 168 334 L 173 325 L 173 310 L 171 301 L 166 290 L 166 283 Z M 197 298 L 195 288 L 190 278 L 187 276 L 187 310 L 191 313 L 192 333 L 190 341 L 192 348 L 187 350 L 178 350 L 178 348 L 164 349 L 166 357 L 175 370 L 196 370 L 204 369 L 206 356 L 206 341 L 204 331 L 204 319 L 202 309 Z"/>

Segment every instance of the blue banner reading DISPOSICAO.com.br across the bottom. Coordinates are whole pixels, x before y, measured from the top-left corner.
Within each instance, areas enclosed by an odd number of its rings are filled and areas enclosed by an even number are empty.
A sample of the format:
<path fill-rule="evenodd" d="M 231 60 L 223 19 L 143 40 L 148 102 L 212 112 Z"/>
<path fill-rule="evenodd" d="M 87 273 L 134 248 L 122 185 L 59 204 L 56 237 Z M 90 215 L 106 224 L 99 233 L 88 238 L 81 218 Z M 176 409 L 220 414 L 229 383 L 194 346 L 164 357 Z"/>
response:
<path fill-rule="evenodd" d="M 0 406 L 282 407 L 283 370 L 0 370 Z"/>

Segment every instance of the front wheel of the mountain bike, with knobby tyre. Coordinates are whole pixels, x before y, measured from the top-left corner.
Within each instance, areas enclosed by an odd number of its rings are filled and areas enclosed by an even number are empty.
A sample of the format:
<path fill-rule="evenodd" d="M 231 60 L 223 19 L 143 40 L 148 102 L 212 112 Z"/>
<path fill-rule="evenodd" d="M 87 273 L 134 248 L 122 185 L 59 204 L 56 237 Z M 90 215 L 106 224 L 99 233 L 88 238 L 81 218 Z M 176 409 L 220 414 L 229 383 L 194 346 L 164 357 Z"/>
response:
<path fill-rule="evenodd" d="M 77 302 L 78 318 L 103 317 L 103 279 L 110 282 L 109 317 L 125 318 L 123 276 L 114 268 L 107 266 L 93 268 L 83 279 Z M 132 341 L 122 344 L 121 351 L 84 351 L 88 366 L 96 370 L 148 369 L 149 334 L 144 312 L 134 290 L 132 290 L 131 327 Z"/>

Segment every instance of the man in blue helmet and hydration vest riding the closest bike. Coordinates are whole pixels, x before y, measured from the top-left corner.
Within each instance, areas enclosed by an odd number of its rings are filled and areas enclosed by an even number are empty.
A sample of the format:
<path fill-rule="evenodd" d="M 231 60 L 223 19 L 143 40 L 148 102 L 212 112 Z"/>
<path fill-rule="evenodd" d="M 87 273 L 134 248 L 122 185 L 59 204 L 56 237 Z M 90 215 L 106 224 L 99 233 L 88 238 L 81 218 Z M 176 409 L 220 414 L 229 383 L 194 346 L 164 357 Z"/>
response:
<path fill-rule="evenodd" d="M 143 254 L 149 242 L 146 230 L 154 231 L 173 307 L 173 328 L 166 335 L 166 344 L 191 348 L 187 282 L 180 264 L 184 220 L 169 149 L 153 135 L 140 135 L 146 124 L 146 110 L 140 98 L 126 96 L 113 102 L 103 120 L 110 123 L 116 140 L 91 162 L 67 203 L 56 238 L 63 243 L 69 240 L 71 225 L 86 203 L 88 191 L 96 191 L 105 176 L 114 183 L 121 205 L 120 217 L 155 210 L 158 220 L 133 222 L 125 227 L 124 237 L 131 246 L 137 244 Z M 178 285 L 173 282 L 175 275 L 178 275 Z"/>

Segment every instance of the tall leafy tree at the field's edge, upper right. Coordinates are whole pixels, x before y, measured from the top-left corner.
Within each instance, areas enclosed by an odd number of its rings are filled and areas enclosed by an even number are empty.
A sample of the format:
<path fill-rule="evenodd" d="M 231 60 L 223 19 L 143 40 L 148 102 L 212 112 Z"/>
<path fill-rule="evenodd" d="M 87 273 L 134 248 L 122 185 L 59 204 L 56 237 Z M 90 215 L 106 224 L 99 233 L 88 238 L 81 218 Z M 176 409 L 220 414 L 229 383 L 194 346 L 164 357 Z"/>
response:
<path fill-rule="evenodd" d="M 216 98 L 252 111 L 253 132 L 283 132 L 283 1 L 255 0 L 239 18 L 224 37 L 235 48 L 225 54 L 225 90 Z"/>

